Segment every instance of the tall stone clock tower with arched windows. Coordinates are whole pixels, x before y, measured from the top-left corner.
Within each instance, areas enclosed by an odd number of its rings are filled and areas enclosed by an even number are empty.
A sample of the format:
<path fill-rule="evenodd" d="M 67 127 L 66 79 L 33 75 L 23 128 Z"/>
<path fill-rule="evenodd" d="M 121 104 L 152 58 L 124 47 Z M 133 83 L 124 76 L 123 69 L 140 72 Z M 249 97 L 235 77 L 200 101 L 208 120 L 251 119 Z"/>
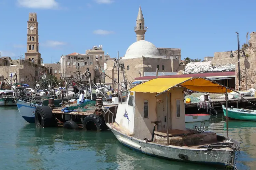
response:
<path fill-rule="evenodd" d="M 41 54 L 38 49 L 38 22 L 37 13 L 29 13 L 28 34 L 27 34 L 27 52 L 25 59 L 35 64 L 41 64 Z"/>

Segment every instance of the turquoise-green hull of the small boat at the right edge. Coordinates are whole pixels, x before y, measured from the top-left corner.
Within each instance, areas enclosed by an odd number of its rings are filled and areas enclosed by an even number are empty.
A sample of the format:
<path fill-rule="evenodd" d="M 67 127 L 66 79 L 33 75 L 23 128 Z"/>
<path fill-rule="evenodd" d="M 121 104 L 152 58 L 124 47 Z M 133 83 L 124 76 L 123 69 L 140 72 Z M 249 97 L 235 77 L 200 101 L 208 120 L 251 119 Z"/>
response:
<path fill-rule="evenodd" d="M 225 107 L 222 107 L 222 108 L 223 108 L 224 116 L 227 118 L 226 108 Z M 240 110 L 240 109 L 237 109 L 237 110 Z M 228 108 L 228 118 L 236 119 L 236 120 L 256 121 L 256 113 L 238 112 L 236 110 L 231 110 L 230 108 Z"/>

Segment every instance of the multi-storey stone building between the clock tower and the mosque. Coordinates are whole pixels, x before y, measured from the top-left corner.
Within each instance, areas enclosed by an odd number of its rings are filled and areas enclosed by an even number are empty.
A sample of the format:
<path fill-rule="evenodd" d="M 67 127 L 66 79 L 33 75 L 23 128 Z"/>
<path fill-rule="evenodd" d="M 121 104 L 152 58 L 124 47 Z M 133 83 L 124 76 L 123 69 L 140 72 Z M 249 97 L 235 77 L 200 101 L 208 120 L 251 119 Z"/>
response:
<path fill-rule="evenodd" d="M 110 56 L 104 55 L 102 46 L 94 46 L 92 49 L 86 50 L 85 54 L 71 53 L 62 55 L 60 59 L 60 73 L 62 77 L 76 76 L 89 70 L 91 80 L 94 83 L 103 83 L 104 63 L 108 61 Z M 84 83 L 89 83 L 88 79 L 82 75 L 81 79 Z"/>

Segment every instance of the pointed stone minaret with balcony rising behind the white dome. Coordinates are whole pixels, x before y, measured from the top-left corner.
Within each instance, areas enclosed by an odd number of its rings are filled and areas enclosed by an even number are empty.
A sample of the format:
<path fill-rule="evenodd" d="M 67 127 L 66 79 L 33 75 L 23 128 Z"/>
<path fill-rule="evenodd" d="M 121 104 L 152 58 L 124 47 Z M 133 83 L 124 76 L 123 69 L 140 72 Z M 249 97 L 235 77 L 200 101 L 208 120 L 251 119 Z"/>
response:
<path fill-rule="evenodd" d="M 136 20 L 136 27 L 134 28 L 136 33 L 137 41 L 145 39 L 145 32 L 147 31 L 147 27 L 144 26 L 144 17 L 141 11 L 141 7 L 139 8 L 139 13 Z"/>

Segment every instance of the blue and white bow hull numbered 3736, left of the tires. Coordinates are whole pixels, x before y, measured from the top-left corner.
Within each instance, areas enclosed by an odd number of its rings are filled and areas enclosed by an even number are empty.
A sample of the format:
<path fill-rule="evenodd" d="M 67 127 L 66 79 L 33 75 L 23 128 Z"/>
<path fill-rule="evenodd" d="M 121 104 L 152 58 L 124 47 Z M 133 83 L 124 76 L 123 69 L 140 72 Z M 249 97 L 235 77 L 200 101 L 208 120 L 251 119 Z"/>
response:
<path fill-rule="evenodd" d="M 20 115 L 29 123 L 35 122 L 35 108 L 38 106 L 41 105 L 17 100 L 17 107 L 19 109 Z"/>

